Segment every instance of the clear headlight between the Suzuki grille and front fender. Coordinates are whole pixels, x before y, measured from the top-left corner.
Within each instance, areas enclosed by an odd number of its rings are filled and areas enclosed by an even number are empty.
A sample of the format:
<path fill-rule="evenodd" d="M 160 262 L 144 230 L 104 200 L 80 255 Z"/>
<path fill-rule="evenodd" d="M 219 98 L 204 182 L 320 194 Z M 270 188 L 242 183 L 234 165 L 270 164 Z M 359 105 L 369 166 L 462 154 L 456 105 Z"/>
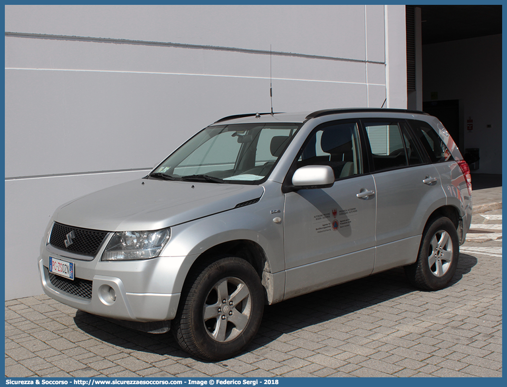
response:
<path fill-rule="evenodd" d="M 170 228 L 156 231 L 115 233 L 102 254 L 103 261 L 150 259 L 157 257 L 171 235 Z"/>

